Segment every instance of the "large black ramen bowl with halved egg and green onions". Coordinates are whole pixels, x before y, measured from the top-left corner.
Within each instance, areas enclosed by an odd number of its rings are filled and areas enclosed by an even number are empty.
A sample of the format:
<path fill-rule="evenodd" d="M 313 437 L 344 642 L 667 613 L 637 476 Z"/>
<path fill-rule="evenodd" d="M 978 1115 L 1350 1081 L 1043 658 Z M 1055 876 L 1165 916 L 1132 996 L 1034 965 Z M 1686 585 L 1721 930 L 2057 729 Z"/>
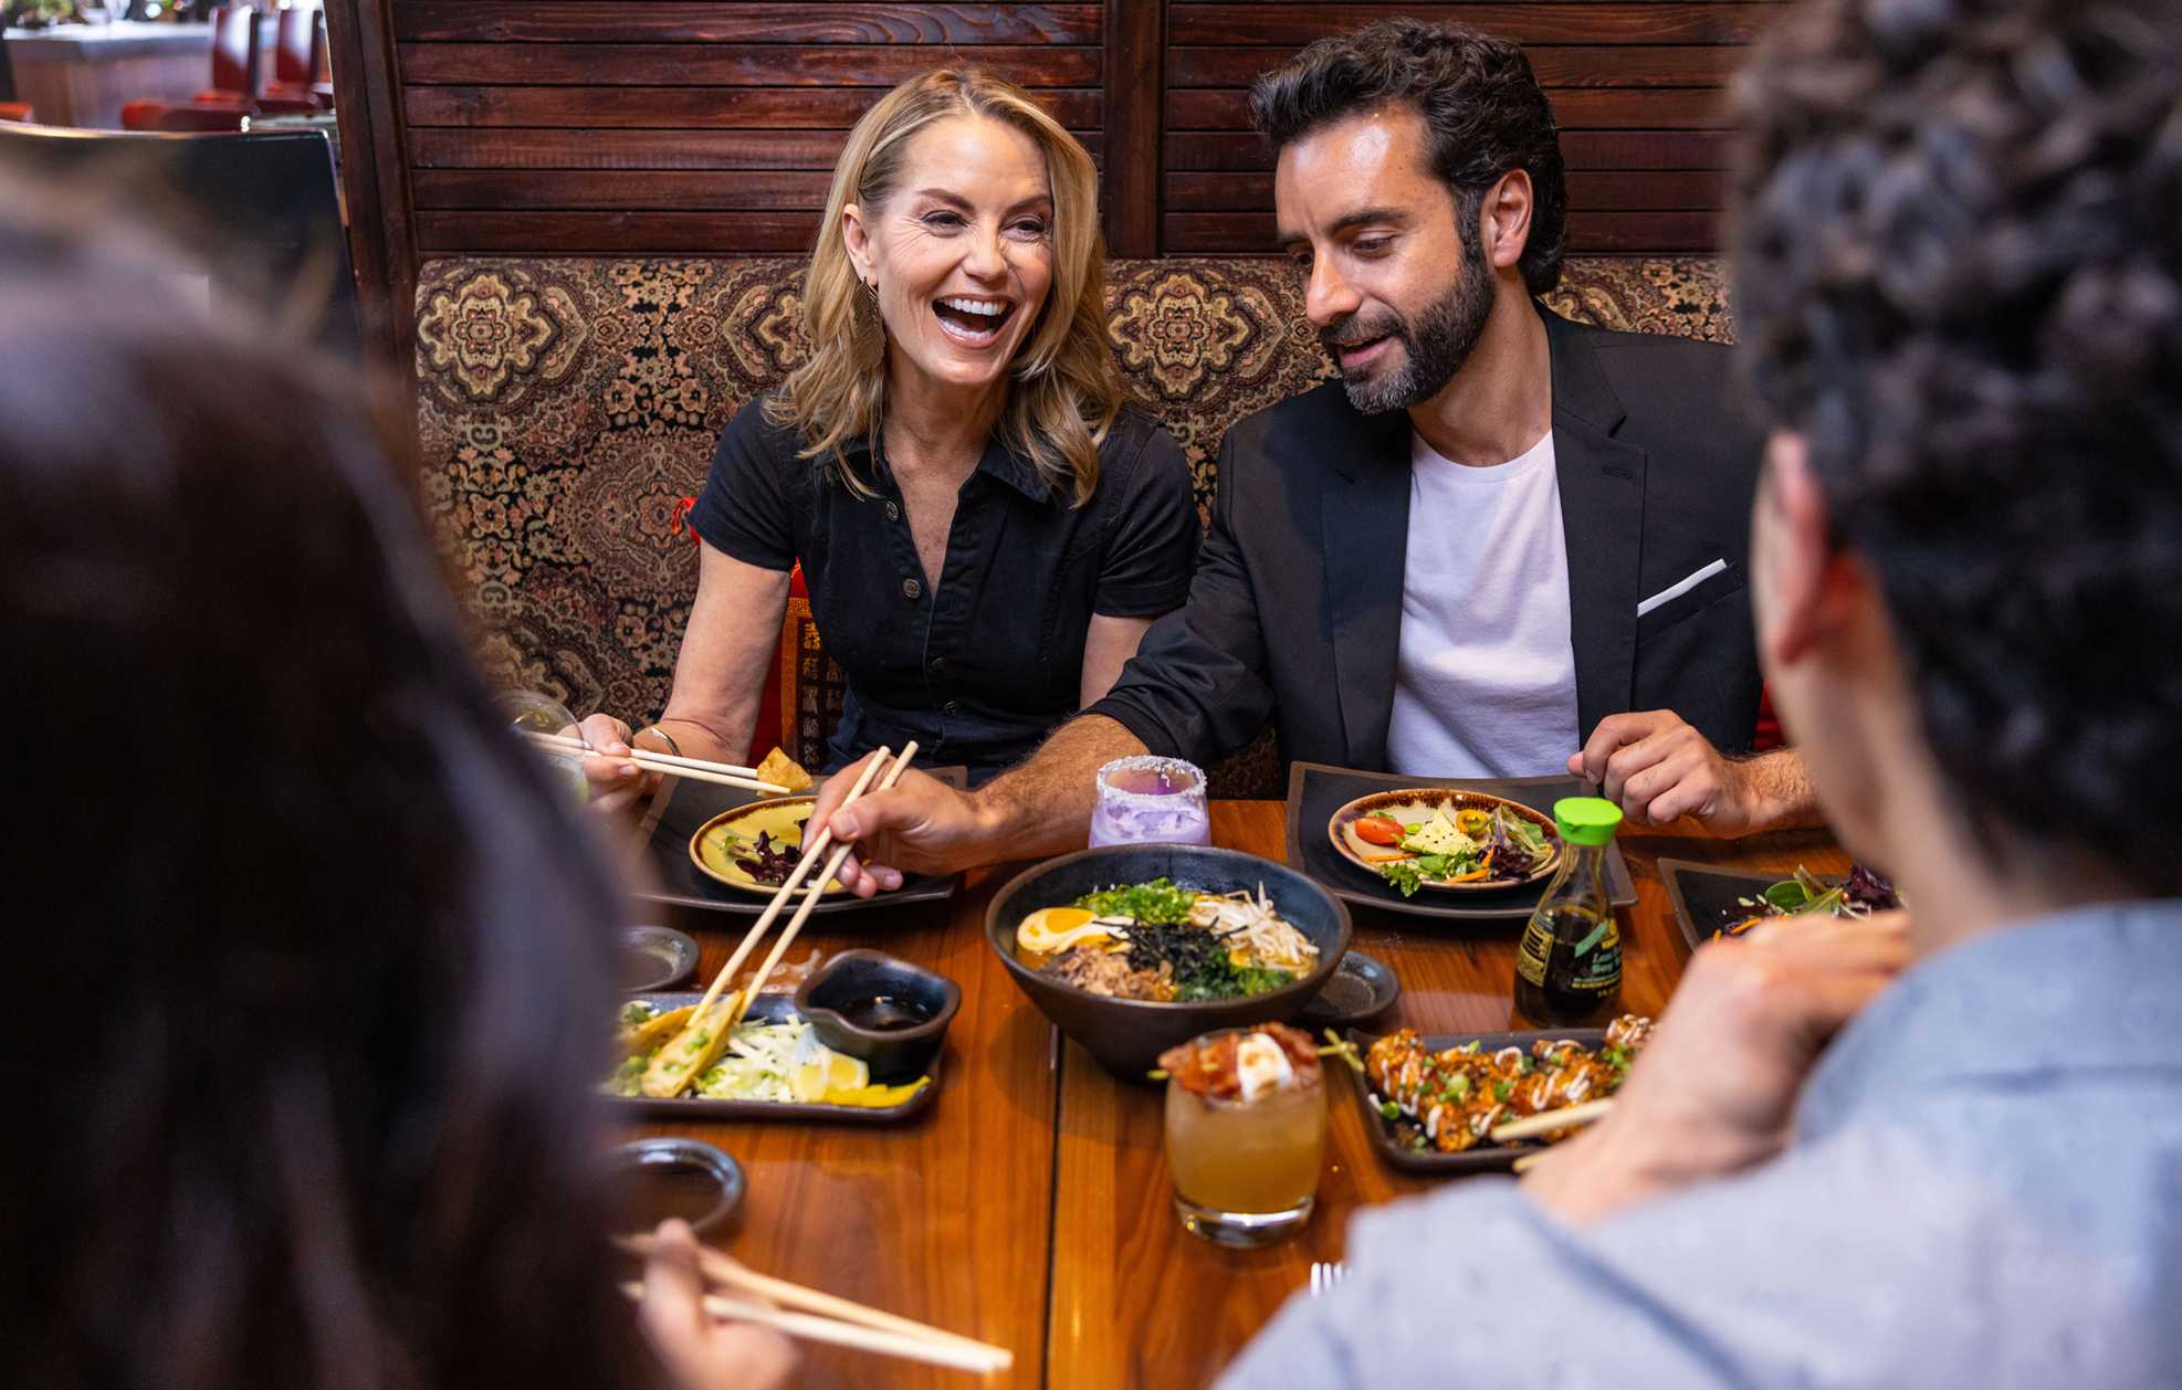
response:
<path fill-rule="evenodd" d="M 993 897 L 986 940 L 1060 1032 L 1124 1080 L 1176 1043 L 1285 1023 L 1348 949 L 1348 910 L 1285 864 L 1200 844 L 1047 860 Z"/>

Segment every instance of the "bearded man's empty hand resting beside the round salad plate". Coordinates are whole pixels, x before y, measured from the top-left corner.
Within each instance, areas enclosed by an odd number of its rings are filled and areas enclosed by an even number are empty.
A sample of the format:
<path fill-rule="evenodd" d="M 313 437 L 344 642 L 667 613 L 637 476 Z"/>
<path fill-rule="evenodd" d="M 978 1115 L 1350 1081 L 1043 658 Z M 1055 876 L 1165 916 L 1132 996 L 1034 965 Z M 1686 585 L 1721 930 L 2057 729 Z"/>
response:
<path fill-rule="evenodd" d="M 1733 838 L 1815 810 L 1798 753 L 1730 759 L 1671 709 L 1606 716 L 1569 759 L 1569 772 L 1599 783 L 1599 796 L 1619 803 L 1630 825 L 1691 816 Z"/>

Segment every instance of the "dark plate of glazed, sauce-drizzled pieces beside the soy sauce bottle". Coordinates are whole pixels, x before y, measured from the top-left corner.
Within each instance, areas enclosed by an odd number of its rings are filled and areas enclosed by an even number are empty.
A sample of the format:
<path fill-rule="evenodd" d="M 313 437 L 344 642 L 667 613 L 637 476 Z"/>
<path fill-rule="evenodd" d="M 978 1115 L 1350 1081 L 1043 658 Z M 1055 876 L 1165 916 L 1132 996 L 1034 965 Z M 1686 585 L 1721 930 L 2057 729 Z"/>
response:
<path fill-rule="evenodd" d="M 1628 1015 L 1610 1028 L 1549 1032 L 1416 1036 L 1351 1028 L 1366 1067 L 1351 1078 L 1364 1133 L 1379 1161 L 1403 1172 L 1508 1172 L 1543 1143 L 1495 1143 L 1482 1130 L 1612 1095 L 1650 1028 L 1650 1019 Z M 1449 1148 L 1458 1143 L 1464 1148 Z"/>

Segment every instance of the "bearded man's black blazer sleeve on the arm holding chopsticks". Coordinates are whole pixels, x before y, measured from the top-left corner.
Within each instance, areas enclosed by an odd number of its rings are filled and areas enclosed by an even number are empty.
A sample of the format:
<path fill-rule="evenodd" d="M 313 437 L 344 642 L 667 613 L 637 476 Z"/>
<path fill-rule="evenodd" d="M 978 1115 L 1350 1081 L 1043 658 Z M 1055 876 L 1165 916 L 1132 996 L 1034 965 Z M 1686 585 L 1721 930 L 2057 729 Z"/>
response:
<path fill-rule="evenodd" d="M 1228 436 L 1189 602 L 1152 624 L 1115 687 L 1087 709 L 1117 720 L 1152 753 L 1200 766 L 1257 738 L 1272 716 L 1266 631 L 1235 537 L 1237 487 Z"/>

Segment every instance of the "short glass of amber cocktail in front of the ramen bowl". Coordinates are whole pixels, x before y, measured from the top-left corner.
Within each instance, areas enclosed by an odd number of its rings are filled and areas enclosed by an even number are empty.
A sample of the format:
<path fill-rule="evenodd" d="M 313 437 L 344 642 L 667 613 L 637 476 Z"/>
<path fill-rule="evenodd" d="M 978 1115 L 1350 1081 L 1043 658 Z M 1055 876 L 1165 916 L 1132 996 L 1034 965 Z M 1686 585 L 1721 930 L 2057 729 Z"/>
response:
<path fill-rule="evenodd" d="M 1316 1067 L 1257 1100 L 1167 1082 L 1167 1172 L 1174 1211 L 1191 1235 L 1248 1248 L 1303 1231 L 1318 1205 L 1324 1152 L 1327 1085 Z"/>

